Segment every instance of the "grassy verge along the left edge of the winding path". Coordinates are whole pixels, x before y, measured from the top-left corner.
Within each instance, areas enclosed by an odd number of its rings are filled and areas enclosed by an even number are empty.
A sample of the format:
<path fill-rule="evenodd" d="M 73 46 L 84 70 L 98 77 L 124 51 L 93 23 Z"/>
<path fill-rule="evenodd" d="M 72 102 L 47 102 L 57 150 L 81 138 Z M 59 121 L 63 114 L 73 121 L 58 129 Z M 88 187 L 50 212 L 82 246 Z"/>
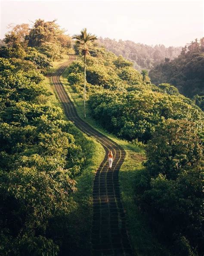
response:
<path fill-rule="evenodd" d="M 60 62 L 54 62 L 51 72 L 55 72 L 59 65 L 67 59 L 68 57 Z M 56 107 L 62 108 L 51 79 L 46 77 L 43 83 L 48 91 L 52 93 L 49 104 L 54 104 Z M 105 152 L 102 145 L 81 133 L 77 128 L 75 138 L 76 144 L 82 145 L 85 149 L 84 156 L 87 160 L 85 161 L 82 173 L 75 178 L 77 181 L 77 192 L 73 193 L 69 199 L 71 206 L 71 212 L 68 217 L 70 231 L 68 231 L 67 237 L 65 237 L 63 250 L 66 251 L 66 255 L 81 256 L 83 253 L 89 254 L 90 250 L 90 233 L 93 219 L 93 211 L 91 207 L 93 179 L 95 171 L 103 160 Z"/>

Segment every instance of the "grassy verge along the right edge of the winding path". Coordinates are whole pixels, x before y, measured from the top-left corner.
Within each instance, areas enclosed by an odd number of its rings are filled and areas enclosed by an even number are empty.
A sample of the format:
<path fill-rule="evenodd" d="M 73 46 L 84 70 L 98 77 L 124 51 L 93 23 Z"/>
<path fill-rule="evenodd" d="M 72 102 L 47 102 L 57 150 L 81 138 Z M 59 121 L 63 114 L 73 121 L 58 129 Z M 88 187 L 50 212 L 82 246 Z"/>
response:
<path fill-rule="evenodd" d="M 77 109 L 78 115 L 83 119 L 83 100 L 74 92 L 67 81 L 68 69 L 61 76 L 61 81 L 65 86 L 71 100 Z M 107 133 L 95 120 L 90 117 L 90 111 L 87 109 L 87 118 L 85 120 L 96 130 L 105 134 L 126 150 L 126 158 L 119 172 L 119 183 L 121 187 L 121 196 L 124 209 L 127 213 L 127 225 L 130 231 L 133 250 L 139 256 L 164 256 L 168 255 L 164 248 L 155 240 L 155 235 L 148 227 L 145 216 L 139 211 L 134 202 L 134 181 L 137 178 L 136 172 L 142 170 L 142 161 L 145 160 L 145 152 L 141 145 L 131 144 L 125 140 L 118 139 L 116 136 Z"/>

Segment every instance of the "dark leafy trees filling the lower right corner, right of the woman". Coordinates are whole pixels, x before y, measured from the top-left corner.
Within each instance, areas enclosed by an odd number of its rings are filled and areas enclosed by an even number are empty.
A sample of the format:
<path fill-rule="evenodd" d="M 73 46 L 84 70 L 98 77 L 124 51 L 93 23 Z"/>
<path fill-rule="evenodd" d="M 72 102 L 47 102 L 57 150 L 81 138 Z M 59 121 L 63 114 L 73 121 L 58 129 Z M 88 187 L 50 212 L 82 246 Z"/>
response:
<path fill-rule="evenodd" d="M 136 203 L 175 256 L 202 256 L 203 148 L 198 125 L 168 119 L 148 141 L 137 173 Z"/>

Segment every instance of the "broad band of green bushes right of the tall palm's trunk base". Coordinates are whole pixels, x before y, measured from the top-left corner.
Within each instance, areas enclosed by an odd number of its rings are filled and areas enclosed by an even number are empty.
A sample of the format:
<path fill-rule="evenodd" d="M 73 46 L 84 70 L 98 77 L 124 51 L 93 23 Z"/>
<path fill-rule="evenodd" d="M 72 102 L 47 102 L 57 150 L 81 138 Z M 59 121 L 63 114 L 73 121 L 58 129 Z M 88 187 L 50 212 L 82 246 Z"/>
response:
<path fill-rule="evenodd" d="M 155 126 L 168 118 L 201 120 L 196 107 L 175 95 L 150 90 L 141 92 L 98 92 L 89 98 L 92 115 L 105 128 L 126 139 L 147 141 Z"/>

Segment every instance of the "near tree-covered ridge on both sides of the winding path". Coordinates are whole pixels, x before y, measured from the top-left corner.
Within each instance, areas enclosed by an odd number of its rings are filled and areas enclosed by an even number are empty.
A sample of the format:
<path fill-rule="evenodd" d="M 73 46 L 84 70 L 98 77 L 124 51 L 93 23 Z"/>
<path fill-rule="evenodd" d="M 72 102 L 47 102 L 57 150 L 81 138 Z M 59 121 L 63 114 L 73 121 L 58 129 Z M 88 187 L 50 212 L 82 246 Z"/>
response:
<path fill-rule="evenodd" d="M 37 19 L 31 28 L 12 27 L 0 47 L 0 254 L 92 250 L 94 218 L 100 227 L 93 180 L 103 149 L 65 119 L 47 76 L 71 54 L 61 79 L 73 106 L 80 113 L 86 100 L 86 121 L 126 150 L 118 193 L 130 205 L 123 216 L 133 253 L 202 256 L 203 112 L 173 85 L 153 84 L 148 72 L 100 47 L 95 36 L 87 41 L 87 33 L 76 43 L 55 20 Z M 201 52 L 189 49 L 175 61 L 195 57 L 197 66 Z"/>

